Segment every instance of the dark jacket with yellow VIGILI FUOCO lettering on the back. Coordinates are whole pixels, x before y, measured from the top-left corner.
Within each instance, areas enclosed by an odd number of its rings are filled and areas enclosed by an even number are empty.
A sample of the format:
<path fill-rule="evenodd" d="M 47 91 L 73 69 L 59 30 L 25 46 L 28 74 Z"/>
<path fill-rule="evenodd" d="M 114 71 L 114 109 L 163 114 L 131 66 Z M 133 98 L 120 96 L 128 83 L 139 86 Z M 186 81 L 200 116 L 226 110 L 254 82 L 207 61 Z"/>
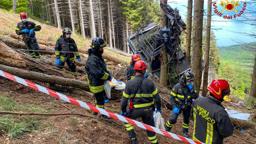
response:
<path fill-rule="evenodd" d="M 193 103 L 193 140 L 202 143 L 223 143 L 223 138 L 233 134 L 233 125 L 221 102 L 209 95 Z"/>

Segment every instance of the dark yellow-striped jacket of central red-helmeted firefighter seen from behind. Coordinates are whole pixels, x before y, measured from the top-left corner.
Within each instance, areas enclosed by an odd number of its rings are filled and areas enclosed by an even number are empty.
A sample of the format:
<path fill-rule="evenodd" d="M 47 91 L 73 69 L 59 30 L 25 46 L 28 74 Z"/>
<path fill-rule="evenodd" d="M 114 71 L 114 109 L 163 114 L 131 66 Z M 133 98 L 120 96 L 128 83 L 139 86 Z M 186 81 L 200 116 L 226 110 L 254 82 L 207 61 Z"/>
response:
<path fill-rule="evenodd" d="M 141 83 L 141 81 L 143 82 Z M 139 88 L 137 94 L 136 93 L 139 83 L 141 83 L 141 87 Z M 133 98 L 133 107 L 136 108 L 148 108 L 154 106 L 154 100 L 157 104 L 157 109 L 161 110 L 161 98 L 159 93 L 157 92 L 157 88 L 155 87 L 153 81 L 151 79 L 147 79 L 143 77 L 143 75 L 135 75 L 134 79 L 127 81 L 127 85 L 125 87 L 125 91 L 123 91 L 123 97 L 121 100 L 121 111 L 123 113 L 127 112 L 127 101 Z"/>

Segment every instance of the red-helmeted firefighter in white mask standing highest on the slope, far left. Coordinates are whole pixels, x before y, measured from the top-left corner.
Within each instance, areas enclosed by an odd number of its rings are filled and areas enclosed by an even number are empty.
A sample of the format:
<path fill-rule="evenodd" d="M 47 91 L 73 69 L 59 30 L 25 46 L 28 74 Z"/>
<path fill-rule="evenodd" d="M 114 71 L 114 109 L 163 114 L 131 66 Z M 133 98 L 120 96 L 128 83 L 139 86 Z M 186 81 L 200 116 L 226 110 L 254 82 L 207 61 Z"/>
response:
<path fill-rule="evenodd" d="M 17 24 L 16 33 L 17 35 L 22 35 L 23 41 L 29 50 L 29 55 L 33 58 L 41 59 L 39 53 L 39 46 L 37 39 L 35 38 L 35 31 L 40 31 L 41 26 L 37 25 L 31 21 L 27 21 L 27 13 L 21 13 L 21 22 Z"/>

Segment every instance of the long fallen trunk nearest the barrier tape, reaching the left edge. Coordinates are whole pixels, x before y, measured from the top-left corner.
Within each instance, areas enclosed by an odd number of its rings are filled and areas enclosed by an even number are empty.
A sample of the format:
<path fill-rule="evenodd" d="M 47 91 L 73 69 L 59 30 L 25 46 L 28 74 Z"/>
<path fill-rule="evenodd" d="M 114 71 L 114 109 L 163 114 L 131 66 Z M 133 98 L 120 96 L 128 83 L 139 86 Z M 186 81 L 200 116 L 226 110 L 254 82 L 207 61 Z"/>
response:
<path fill-rule="evenodd" d="M 18 77 L 21 77 L 23 79 L 31 79 L 31 80 L 41 81 L 41 82 L 46 82 L 46 83 L 66 85 L 66 86 L 77 87 L 77 88 L 85 89 L 86 91 L 89 91 L 88 83 L 86 83 L 84 81 L 78 81 L 75 79 L 67 79 L 64 77 L 57 77 L 54 75 L 46 75 L 46 74 L 37 73 L 34 71 L 26 71 L 23 69 L 8 67 L 6 65 L 1 65 L 1 64 L 0 64 L 0 69 L 7 73 L 11 73 Z"/>

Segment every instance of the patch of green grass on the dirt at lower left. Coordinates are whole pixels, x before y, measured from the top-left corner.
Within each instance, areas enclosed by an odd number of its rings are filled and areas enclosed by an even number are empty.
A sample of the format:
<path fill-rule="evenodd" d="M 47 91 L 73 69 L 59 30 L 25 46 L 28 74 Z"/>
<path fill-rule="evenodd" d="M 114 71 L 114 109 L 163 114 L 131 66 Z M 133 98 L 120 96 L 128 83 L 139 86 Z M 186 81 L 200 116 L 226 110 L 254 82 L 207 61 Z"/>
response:
<path fill-rule="evenodd" d="M 17 111 L 17 112 L 36 112 L 45 113 L 50 112 L 45 109 L 39 108 L 35 105 L 17 105 L 14 99 L 0 95 L 0 111 Z M 41 124 L 41 120 L 45 116 L 19 116 L 19 115 L 0 115 L 0 133 L 7 135 L 11 139 L 15 139 L 27 131 L 43 131 L 45 128 L 49 128 L 47 124 Z"/>

